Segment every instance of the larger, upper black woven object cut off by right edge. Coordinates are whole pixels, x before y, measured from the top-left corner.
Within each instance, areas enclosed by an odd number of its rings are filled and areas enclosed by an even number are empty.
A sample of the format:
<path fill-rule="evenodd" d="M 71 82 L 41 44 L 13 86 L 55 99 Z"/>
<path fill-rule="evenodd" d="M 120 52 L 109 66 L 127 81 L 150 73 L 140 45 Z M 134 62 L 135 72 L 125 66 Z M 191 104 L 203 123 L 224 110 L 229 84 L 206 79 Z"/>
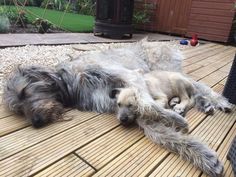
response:
<path fill-rule="evenodd" d="M 236 54 L 225 84 L 223 95 L 228 98 L 230 103 L 236 104 Z"/>

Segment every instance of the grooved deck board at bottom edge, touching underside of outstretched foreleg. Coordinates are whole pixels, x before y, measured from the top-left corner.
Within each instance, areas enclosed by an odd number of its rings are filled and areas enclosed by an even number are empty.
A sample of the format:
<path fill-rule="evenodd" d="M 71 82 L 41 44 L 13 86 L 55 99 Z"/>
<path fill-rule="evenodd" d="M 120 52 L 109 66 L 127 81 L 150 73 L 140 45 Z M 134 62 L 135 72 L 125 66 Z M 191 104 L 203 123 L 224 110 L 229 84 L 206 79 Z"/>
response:
<path fill-rule="evenodd" d="M 99 170 L 94 176 L 143 176 L 142 173 L 145 173 L 146 168 L 155 167 L 168 154 L 169 152 L 145 137 Z M 137 170 L 140 170 L 139 174 L 136 173 Z"/>

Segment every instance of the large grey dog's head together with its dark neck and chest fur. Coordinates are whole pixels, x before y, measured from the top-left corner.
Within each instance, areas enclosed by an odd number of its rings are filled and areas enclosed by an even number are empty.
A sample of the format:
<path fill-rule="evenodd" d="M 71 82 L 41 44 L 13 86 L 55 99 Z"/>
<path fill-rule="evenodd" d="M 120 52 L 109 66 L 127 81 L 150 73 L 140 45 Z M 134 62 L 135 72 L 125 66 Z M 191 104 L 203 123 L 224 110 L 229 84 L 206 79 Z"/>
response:
<path fill-rule="evenodd" d="M 120 78 L 94 68 L 72 73 L 66 69 L 56 72 L 18 67 L 7 81 L 3 101 L 10 110 L 25 115 L 34 127 L 41 127 L 62 119 L 64 107 L 114 112 L 116 103 L 109 92 L 123 86 Z"/>

